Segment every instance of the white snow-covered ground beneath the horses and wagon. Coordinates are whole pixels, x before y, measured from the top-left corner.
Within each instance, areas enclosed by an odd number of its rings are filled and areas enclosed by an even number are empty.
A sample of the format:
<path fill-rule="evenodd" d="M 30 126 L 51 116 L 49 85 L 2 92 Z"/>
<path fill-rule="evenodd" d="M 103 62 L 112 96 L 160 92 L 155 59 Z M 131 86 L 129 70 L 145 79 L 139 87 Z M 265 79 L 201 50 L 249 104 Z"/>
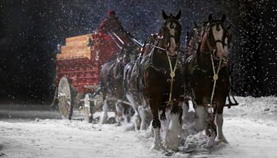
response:
<path fill-rule="evenodd" d="M 180 145 L 170 157 L 277 157 L 277 98 L 237 99 L 239 106 L 224 109 L 229 144 L 200 148 L 204 136 L 199 133 L 187 140 L 195 143 L 195 150 Z M 62 120 L 58 112 L 0 107 L 0 157 L 167 157 L 165 151 L 150 150 L 149 131 Z"/>

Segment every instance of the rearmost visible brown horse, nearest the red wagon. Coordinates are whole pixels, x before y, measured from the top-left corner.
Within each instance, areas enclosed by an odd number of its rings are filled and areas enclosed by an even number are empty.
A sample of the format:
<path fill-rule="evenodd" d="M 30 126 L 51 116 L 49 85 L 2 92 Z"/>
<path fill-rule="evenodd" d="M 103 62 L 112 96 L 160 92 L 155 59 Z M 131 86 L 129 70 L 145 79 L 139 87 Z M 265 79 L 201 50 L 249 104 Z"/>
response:
<path fill-rule="evenodd" d="M 127 121 L 129 121 L 129 105 L 124 103 L 126 98 L 123 90 L 123 72 L 125 65 L 134 61 L 138 54 L 138 48 L 136 46 L 127 46 L 117 55 L 116 60 L 107 62 L 102 66 L 99 91 L 102 92 L 104 105 L 102 106 L 103 111 L 100 123 L 107 123 L 108 100 L 111 97 L 117 100 L 116 120 L 118 124 L 120 124 L 123 113 L 127 116 Z"/>

